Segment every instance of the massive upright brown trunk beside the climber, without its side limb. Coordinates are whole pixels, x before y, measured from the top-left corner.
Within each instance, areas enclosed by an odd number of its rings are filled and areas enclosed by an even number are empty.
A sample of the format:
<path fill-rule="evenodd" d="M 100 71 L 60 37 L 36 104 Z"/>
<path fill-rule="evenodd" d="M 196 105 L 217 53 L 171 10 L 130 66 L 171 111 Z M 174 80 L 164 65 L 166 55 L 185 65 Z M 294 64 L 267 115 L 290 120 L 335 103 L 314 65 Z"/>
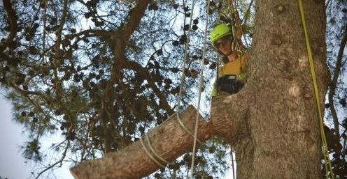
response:
<path fill-rule="evenodd" d="M 320 135 L 297 1 L 257 1 L 249 137 L 236 145 L 239 178 L 320 178 Z M 304 1 L 320 99 L 325 98 L 325 1 Z M 323 107 L 323 100 L 321 100 Z M 323 109 L 323 108 L 322 108 Z"/>

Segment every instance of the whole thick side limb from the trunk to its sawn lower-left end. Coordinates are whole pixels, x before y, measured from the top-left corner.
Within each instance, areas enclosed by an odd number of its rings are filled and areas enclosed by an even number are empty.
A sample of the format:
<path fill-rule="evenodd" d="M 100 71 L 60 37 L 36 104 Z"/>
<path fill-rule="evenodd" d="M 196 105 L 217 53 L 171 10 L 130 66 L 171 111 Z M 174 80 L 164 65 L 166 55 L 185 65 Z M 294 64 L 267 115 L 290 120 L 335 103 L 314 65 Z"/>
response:
<path fill-rule="evenodd" d="M 206 122 L 200 115 L 198 117 L 197 139 L 199 141 L 204 142 L 215 135 L 234 141 L 231 139 L 232 137 L 240 137 L 247 131 L 244 130 L 246 126 L 244 122 L 247 121 L 244 120 L 248 110 L 247 102 L 246 100 L 238 100 L 243 98 L 244 93 L 246 92 L 243 91 L 237 95 L 220 95 L 213 99 L 211 120 Z M 193 133 L 194 131 L 196 118 L 197 110 L 190 106 L 179 114 L 179 119 L 184 127 L 180 125 L 177 115 L 174 114 L 166 122 L 151 130 L 148 137 L 155 153 L 168 162 L 173 162 L 176 158 L 192 150 L 194 138 L 190 132 Z M 185 127 L 190 132 L 187 132 Z M 71 168 L 71 173 L 76 179 L 136 179 L 148 176 L 162 166 L 146 153 L 146 150 L 150 151 L 150 147 L 146 144 L 145 137 L 142 140 L 146 148 L 143 148 L 141 141 L 136 141 L 118 152 L 108 153 L 102 159 L 78 164 Z M 161 161 L 158 159 L 157 162 Z M 162 162 L 161 164 L 164 165 Z"/>

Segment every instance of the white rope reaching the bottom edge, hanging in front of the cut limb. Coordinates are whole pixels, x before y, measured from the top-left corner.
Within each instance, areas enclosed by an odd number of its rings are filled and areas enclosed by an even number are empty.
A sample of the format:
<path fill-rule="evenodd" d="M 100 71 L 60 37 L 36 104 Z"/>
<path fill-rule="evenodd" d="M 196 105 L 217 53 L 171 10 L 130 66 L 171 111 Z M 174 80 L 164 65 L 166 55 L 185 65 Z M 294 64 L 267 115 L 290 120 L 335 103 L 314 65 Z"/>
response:
<path fill-rule="evenodd" d="M 197 118 L 195 118 L 195 129 L 194 129 L 194 144 L 193 144 L 193 151 L 192 151 L 192 164 L 190 166 L 190 179 L 193 178 L 194 173 L 194 159 L 195 159 L 195 153 L 196 153 L 196 147 L 197 147 L 197 129 L 199 124 L 199 111 L 200 111 L 200 101 L 201 101 L 201 91 L 202 86 L 204 82 L 204 61 L 206 56 L 206 44 L 207 44 L 207 28 L 208 28 L 208 17 L 209 17 L 209 10 L 210 10 L 210 1 L 207 1 L 207 8 L 206 8 L 206 26 L 205 26 L 205 33 L 204 33 L 204 50 L 202 52 L 202 59 L 201 59 L 201 70 L 200 70 L 200 84 L 199 84 L 199 98 L 197 102 Z"/>

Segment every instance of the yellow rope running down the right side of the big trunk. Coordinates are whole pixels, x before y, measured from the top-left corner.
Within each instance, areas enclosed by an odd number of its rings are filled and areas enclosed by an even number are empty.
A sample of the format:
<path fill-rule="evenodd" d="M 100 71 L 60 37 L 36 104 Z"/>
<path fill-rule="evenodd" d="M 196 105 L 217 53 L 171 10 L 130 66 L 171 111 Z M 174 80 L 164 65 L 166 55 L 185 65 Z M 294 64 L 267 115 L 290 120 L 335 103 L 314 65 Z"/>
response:
<path fill-rule="evenodd" d="M 322 142 L 323 142 L 325 175 L 327 178 L 329 178 L 329 176 L 330 176 L 332 179 L 334 179 L 334 173 L 332 173 L 332 164 L 330 162 L 329 152 L 328 152 L 328 148 L 327 148 L 327 139 L 325 138 L 325 132 L 324 132 L 324 128 L 323 128 L 323 116 L 322 116 L 322 111 L 320 109 L 320 104 L 319 104 L 320 100 L 319 100 L 319 95 L 318 95 L 318 85 L 317 85 L 317 79 L 316 79 L 316 72 L 315 72 L 315 68 L 314 68 L 314 64 L 313 64 L 312 52 L 311 52 L 311 47 L 310 47 L 310 42 L 309 42 L 309 35 L 308 35 L 307 29 L 306 29 L 304 8 L 302 6 L 302 0 L 298 0 L 298 1 L 299 1 L 300 15 L 302 17 L 302 26 L 304 27 L 307 54 L 309 56 L 309 63 L 310 63 L 310 68 L 311 68 L 313 88 L 314 88 L 314 93 L 316 96 L 316 104 L 317 104 L 317 109 L 318 109 L 318 120 L 320 123 L 320 137 L 322 138 Z"/>

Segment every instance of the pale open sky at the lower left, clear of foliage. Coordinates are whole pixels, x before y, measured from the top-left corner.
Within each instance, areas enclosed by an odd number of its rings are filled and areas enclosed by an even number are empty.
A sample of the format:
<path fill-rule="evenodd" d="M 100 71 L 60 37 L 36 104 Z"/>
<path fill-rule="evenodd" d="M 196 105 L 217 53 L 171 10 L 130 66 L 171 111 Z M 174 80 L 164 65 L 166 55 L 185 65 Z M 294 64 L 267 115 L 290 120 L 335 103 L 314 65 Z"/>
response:
<path fill-rule="evenodd" d="M 31 177 L 31 164 L 25 164 L 20 146 L 24 144 L 26 134 L 20 125 L 12 120 L 10 102 L 0 95 L 0 178 L 27 179 Z M 31 177 L 32 178 L 32 177 Z M 69 166 L 55 172 L 51 178 L 72 179 Z"/>

